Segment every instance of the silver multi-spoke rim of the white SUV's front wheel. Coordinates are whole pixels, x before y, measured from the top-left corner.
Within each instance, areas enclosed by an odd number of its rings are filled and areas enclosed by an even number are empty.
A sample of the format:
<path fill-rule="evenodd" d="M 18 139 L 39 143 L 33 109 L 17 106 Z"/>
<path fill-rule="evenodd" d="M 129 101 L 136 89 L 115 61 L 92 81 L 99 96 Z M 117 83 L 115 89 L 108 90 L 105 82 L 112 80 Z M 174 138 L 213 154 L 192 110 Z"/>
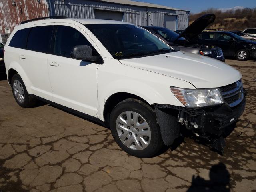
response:
<path fill-rule="evenodd" d="M 143 150 L 150 144 L 148 122 L 136 112 L 122 112 L 116 120 L 116 130 L 120 140 L 130 149 Z"/>

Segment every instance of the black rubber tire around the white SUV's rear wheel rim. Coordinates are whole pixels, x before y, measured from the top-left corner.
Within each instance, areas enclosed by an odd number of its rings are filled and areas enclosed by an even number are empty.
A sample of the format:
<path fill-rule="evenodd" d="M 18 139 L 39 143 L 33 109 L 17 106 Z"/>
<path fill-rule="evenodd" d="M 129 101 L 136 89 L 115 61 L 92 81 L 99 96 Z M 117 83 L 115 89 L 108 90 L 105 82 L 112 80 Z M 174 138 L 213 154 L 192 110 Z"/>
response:
<path fill-rule="evenodd" d="M 24 96 L 24 101 L 18 100 L 18 98 L 16 98 L 16 96 L 15 96 L 15 90 L 14 90 L 14 81 L 15 80 L 18 80 L 18 82 L 20 82 L 20 84 L 22 85 L 22 88 L 23 88 L 22 90 L 24 92 L 24 94 L 22 94 L 22 96 Z M 29 108 L 36 104 L 36 99 L 32 95 L 28 94 L 26 86 L 25 86 L 24 82 L 22 81 L 22 78 L 20 77 L 19 74 L 14 74 L 14 76 L 12 77 L 11 86 L 12 86 L 12 94 L 13 94 L 16 102 L 19 104 L 19 106 L 21 106 L 23 108 Z"/>

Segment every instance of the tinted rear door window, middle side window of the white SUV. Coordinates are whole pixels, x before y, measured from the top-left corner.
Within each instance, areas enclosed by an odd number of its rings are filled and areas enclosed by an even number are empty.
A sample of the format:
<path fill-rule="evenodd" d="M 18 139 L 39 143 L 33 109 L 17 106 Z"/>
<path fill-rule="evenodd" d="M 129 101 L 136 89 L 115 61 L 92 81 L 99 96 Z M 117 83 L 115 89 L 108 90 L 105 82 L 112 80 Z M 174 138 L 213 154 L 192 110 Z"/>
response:
<path fill-rule="evenodd" d="M 28 35 L 27 49 L 51 53 L 52 30 L 52 25 L 32 27 Z"/>

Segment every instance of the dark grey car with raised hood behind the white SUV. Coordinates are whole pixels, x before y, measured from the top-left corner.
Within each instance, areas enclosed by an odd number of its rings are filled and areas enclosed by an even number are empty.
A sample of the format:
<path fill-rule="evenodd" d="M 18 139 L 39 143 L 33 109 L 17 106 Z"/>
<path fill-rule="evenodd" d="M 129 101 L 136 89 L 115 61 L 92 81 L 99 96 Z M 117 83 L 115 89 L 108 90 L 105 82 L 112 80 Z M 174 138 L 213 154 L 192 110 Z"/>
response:
<path fill-rule="evenodd" d="M 176 50 L 182 50 L 186 52 L 191 52 L 195 54 L 201 54 L 216 58 L 221 61 L 225 61 L 221 48 L 214 45 L 203 45 L 195 44 L 191 42 L 192 39 L 198 37 L 198 34 L 206 28 L 210 23 L 214 22 L 215 15 L 207 14 L 196 21 L 194 21 L 190 26 L 188 26 L 180 35 L 176 32 L 163 28 L 154 26 L 142 26 L 146 30 L 152 32 L 158 38 L 162 39 L 168 45 Z"/>

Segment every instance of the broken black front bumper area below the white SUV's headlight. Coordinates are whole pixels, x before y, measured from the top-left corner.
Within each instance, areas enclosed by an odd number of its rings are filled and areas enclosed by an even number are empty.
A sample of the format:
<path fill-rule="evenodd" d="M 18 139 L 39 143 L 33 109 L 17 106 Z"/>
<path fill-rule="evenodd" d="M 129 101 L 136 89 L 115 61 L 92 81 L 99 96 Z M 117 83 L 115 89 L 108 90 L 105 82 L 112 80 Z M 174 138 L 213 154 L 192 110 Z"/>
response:
<path fill-rule="evenodd" d="M 199 109 L 155 104 L 157 122 L 161 132 L 164 132 L 164 134 L 162 133 L 164 143 L 170 145 L 179 136 L 180 127 L 177 124 L 180 122 L 187 130 L 191 130 L 196 138 L 205 140 L 212 148 L 223 152 L 225 146 L 223 138 L 232 132 L 232 125 L 238 121 L 244 112 L 245 103 L 246 97 L 234 107 L 221 104 Z M 174 121 L 171 124 L 166 119 L 174 116 L 176 116 L 176 125 L 173 125 Z"/>

